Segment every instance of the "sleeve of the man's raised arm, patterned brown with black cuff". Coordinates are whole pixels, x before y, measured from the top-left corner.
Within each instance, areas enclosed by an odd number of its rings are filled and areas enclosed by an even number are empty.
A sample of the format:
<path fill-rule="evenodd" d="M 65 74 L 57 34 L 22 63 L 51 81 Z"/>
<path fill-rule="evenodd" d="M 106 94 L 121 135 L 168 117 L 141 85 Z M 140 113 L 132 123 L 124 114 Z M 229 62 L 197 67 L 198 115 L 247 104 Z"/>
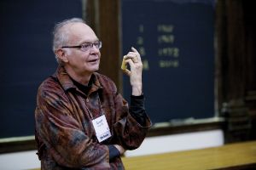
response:
<path fill-rule="evenodd" d="M 131 105 L 121 94 L 114 96 L 116 120 L 113 124 L 114 136 L 125 150 L 137 149 L 145 139 L 152 123 L 144 108 L 143 96 L 131 96 Z"/>

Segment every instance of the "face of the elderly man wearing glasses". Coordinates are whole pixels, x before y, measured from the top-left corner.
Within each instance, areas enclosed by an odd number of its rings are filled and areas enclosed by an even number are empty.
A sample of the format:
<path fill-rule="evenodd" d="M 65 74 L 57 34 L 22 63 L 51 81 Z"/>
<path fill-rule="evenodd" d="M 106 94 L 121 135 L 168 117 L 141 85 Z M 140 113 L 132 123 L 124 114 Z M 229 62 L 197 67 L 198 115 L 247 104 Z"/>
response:
<path fill-rule="evenodd" d="M 98 41 L 95 32 L 90 26 L 83 23 L 74 23 L 67 29 L 69 42 L 63 44 L 64 46 L 79 46 L 84 42 Z M 101 53 L 96 46 L 92 46 L 86 51 L 82 51 L 81 48 L 61 48 L 61 52 L 61 60 L 77 76 L 90 75 L 99 70 Z"/>

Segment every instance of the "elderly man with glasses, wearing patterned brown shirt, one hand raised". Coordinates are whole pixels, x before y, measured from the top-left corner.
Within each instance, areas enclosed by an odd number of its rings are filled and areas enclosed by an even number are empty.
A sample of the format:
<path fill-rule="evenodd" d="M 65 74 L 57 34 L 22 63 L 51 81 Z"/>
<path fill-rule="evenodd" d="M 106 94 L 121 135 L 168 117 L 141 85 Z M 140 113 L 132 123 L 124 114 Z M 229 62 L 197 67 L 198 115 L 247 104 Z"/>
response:
<path fill-rule="evenodd" d="M 102 42 L 81 19 L 54 29 L 55 74 L 38 88 L 36 139 L 41 168 L 125 169 L 120 156 L 142 144 L 151 126 L 144 109 L 143 64 L 135 48 L 130 65 L 131 105 L 113 81 L 97 73 Z"/>

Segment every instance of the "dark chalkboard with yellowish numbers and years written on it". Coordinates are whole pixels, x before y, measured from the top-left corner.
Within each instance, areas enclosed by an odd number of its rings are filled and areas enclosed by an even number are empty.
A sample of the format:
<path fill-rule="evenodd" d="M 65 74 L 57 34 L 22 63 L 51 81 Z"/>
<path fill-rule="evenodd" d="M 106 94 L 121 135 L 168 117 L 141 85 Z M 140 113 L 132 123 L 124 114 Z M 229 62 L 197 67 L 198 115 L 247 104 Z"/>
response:
<path fill-rule="evenodd" d="M 214 116 L 214 0 L 122 0 L 123 54 L 143 59 L 153 122 Z M 123 77 L 126 99 L 129 79 Z"/>

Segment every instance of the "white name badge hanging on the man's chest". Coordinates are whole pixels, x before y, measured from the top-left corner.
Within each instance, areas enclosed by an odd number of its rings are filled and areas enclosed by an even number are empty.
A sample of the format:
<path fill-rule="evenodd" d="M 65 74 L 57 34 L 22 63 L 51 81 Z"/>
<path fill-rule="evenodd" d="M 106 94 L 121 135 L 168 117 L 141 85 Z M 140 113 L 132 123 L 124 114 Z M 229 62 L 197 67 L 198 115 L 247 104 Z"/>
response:
<path fill-rule="evenodd" d="M 102 142 L 103 140 L 111 137 L 111 133 L 105 115 L 99 116 L 96 119 L 92 120 L 92 124 L 99 142 Z"/>

